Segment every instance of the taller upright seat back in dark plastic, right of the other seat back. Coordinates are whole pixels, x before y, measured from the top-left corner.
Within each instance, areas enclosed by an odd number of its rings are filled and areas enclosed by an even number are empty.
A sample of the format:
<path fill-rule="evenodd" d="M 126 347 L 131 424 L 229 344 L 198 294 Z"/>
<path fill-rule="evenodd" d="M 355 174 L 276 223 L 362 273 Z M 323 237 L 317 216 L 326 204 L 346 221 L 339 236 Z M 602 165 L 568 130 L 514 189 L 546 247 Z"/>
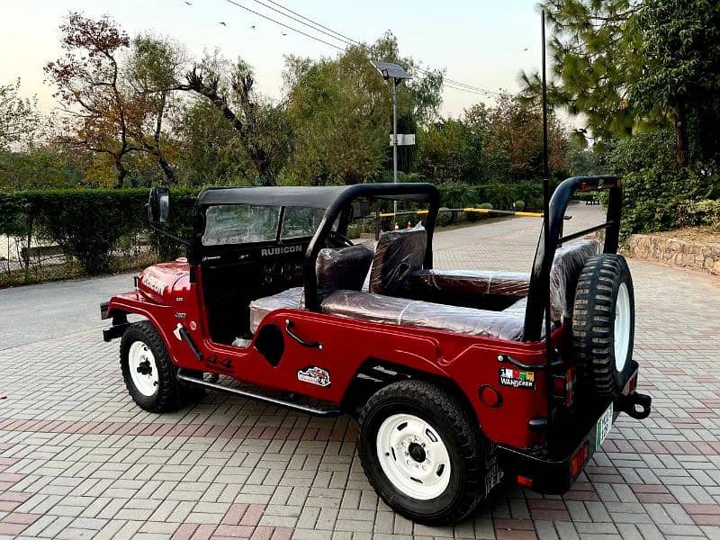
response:
<path fill-rule="evenodd" d="M 427 245 L 428 232 L 420 223 L 412 229 L 383 233 L 375 248 L 370 292 L 390 296 L 400 293 L 405 276 L 422 269 Z"/>

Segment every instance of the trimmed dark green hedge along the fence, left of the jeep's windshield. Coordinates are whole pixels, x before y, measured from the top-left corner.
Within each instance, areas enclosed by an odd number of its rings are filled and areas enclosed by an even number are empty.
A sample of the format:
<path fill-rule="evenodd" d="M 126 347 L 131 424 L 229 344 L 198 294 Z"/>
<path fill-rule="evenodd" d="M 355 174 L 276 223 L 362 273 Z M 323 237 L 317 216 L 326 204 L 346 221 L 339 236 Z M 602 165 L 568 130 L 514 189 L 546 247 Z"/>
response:
<path fill-rule="evenodd" d="M 174 190 L 170 228 L 189 238 L 196 191 Z M 0 193 L 0 233 L 43 238 L 75 258 L 85 274 L 110 270 L 112 250 L 122 238 L 146 232 L 161 258 L 177 246 L 148 231 L 148 189 L 43 190 Z M 181 226 L 180 224 L 183 224 Z"/>

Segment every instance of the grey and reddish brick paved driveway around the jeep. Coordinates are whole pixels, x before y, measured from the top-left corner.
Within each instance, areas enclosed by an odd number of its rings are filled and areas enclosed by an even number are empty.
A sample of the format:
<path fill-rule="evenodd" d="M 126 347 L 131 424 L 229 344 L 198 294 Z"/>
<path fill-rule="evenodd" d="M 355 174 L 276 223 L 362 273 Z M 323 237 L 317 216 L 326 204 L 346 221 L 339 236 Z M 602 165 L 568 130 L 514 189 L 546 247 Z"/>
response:
<path fill-rule="evenodd" d="M 577 227 L 597 209 L 573 213 Z M 437 266 L 527 269 L 536 226 L 441 232 Z M 99 321 L 77 319 L 72 335 L 0 342 L 0 537 L 720 538 L 720 283 L 631 266 L 635 357 L 653 416 L 621 417 L 563 498 L 506 487 L 456 527 L 414 526 L 365 480 L 349 419 L 218 393 L 148 414 L 125 392 L 117 342 L 103 343 Z M 97 313 L 95 298 L 74 293 L 88 283 L 66 284 L 48 307 L 62 297 Z M 23 294 L 38 289 L 24 291 L 0 291 L 5 324 L 19 337 L 56 317 L 28 311 Z"/>

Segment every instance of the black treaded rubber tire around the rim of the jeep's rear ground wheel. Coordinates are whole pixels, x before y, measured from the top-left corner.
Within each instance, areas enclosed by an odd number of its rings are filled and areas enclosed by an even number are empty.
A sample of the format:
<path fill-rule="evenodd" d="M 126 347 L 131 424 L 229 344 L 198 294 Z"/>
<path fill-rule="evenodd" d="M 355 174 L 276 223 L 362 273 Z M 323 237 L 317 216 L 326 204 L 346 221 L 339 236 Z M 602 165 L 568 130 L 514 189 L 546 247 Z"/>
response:
<path fill-rule="evenodd" d="M 401 413 L 425 420 L 446 445 L 450 482 L 435 499 L 410 497 L 383 472 L 377 451 L 378 430 L 385 419 Z M 471 414 L 455 397 L 425 381 L 392 383 L 374 393 L 360 411 L 358 447 L 368 480 L 388 506 L 419 523 L 446 525 L 465 518 L 485 499 L 486 458 L 491 443 Z"/>

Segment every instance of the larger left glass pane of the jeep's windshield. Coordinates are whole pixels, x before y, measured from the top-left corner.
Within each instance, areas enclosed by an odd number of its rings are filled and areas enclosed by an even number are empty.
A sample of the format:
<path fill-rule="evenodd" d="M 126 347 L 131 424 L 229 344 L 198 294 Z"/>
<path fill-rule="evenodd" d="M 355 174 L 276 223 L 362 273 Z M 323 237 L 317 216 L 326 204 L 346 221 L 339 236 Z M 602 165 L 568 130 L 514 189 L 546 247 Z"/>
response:
<path fill-rule="evenodd" d="M 203 246 L 224 246 L 275 240 L 279 206 L 219 204 L 205 214 Z"/>

